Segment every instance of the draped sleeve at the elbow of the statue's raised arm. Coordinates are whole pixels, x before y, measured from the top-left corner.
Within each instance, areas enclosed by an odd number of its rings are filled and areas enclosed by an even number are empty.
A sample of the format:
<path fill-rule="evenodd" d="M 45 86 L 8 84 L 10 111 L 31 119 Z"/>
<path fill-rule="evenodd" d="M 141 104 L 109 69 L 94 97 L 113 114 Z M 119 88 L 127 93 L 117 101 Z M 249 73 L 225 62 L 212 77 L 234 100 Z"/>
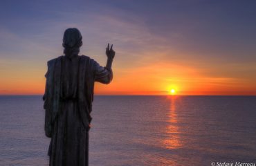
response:
<path fill-rule="evenodd" d="M 93 60 L 93 68 L 94 68 L 94 75 L 95 75 L 95 82 L 100 82 L 102 84 L 109 84 L 113 79 L 113 71 L 110 68 L 106 68 L 100 66 L 98 62 Z"/>

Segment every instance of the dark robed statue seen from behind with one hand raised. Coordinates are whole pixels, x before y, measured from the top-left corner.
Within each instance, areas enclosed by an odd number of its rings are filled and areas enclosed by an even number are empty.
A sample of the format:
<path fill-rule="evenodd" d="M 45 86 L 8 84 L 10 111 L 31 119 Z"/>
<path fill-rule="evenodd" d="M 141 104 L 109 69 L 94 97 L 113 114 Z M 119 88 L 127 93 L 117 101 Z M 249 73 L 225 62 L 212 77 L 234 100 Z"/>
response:
<path fill-rule="evenodd" d="M 106 48 L 107 64 L 78 55 L 82 35 L 77 28 L 64 32 L 64 55 L 48 61 L 44 93 L 46 136 L 51 138 L 49 165 L 89 165 L 89 129 L 94 82 L 109 84 L 113 44 Z"/>

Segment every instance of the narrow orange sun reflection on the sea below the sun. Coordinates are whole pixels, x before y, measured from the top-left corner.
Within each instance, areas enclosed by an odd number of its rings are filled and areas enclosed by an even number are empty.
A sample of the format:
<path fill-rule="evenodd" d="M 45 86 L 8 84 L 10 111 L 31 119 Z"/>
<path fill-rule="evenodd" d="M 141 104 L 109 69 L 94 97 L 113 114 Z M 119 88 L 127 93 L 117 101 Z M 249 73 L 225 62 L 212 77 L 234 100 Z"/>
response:
<path fill-rule="evenodd" d="M 169 124 L 166 128 L 167 138 L 163 140 L 163 145 L 167 149 L 177 149 L 182 147 L 181 138 L 179 136 L 179 121 L 176 113 L 176 98 L 176 96 L 168 97 L 168 99 L 170 99 L 170 110 L 167 113 L 167 122 L 169 122 Z"/>

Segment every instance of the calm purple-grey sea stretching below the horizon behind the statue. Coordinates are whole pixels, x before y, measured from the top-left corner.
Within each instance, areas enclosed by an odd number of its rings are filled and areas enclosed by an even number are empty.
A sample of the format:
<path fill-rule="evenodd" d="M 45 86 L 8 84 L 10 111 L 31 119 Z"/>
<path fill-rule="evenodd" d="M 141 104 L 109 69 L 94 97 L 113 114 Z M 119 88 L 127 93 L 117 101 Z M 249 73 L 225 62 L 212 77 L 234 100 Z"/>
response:
<path fill-rule="evenodd" d="M 0 97 L 0 165 L 48 165 L 40 96 Z M 256 97 L 95 96 L 93 166 L 256 164 Z"/>

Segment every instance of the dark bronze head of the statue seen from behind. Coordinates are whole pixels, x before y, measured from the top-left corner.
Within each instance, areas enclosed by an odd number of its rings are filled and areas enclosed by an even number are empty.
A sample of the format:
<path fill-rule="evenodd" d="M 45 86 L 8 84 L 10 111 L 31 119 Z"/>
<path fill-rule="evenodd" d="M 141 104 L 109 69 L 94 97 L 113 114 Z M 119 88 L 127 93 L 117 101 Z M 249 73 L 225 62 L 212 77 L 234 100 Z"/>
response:
<path fill-rule="evenodd" d="M 78 54 L 82 46 L 82 35 L 77 28 L 68 28 L 63 35 L 64 54 L 72 56 Z"/>

